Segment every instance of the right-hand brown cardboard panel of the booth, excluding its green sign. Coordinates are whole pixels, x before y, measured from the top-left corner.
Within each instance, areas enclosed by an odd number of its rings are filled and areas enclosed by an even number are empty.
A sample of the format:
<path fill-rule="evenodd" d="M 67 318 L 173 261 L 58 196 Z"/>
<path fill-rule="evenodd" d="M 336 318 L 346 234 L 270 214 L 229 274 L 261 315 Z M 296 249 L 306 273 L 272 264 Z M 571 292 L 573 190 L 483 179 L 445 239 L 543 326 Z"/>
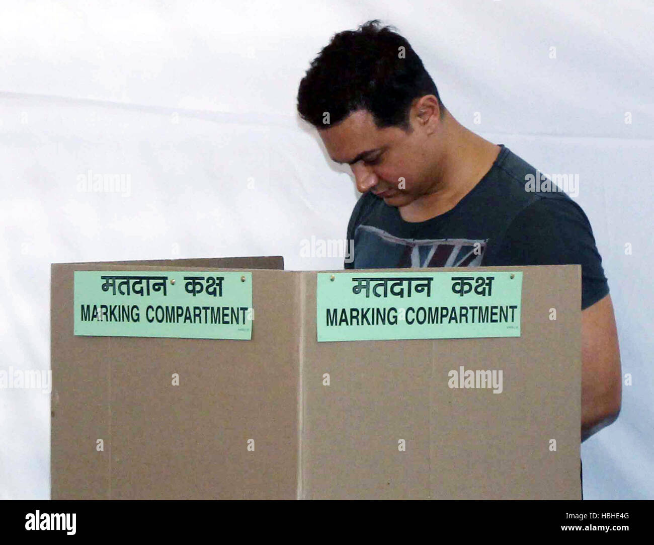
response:
<path fill-rule="evenodd" d="M 520 338 L 318 343 L 305 315 L 301 497 L 581 498 L 580 268 L 490 270 L 523 271 Z M 502 393 L 450 388 L 460 366 L 502 370 Z"/>

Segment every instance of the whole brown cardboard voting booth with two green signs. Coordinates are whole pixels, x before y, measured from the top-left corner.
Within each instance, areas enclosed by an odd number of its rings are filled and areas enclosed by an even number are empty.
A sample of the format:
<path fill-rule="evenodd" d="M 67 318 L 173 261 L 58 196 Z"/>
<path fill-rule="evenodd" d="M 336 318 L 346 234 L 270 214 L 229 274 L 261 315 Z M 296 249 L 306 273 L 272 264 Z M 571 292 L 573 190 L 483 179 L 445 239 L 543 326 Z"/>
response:
<path fill-rule="evenodd" d="M 581 268 L 52 265 L 52 499 L 581 499 Z"/>

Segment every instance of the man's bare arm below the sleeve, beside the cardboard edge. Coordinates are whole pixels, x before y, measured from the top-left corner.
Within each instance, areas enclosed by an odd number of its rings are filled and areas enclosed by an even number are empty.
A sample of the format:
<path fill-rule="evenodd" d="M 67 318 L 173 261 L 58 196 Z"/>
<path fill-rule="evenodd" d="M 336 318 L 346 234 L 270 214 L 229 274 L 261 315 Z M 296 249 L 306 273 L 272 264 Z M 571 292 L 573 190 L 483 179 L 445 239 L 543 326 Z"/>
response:
<path fill-rule="evenodd" d="M 620 351 L 608 294 L 581 311 L 581 441 L 613 423 L 621 404 Z"/>

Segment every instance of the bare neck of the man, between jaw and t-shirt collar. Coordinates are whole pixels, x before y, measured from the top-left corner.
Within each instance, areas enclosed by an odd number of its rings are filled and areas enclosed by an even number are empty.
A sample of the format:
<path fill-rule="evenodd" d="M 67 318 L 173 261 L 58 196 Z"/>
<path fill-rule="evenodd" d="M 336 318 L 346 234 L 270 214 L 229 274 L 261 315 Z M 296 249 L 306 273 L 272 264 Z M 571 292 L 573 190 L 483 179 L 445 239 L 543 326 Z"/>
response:
<path fill-rule="evenodd" d="M 447 145 L 434 167 L 434 184 L 400 207 L 405 221 L 424 221 L 453 209 L 489 171 L 500 152 L 498 145 L 464 128 L 449 113 L 441 137 Z"/>

